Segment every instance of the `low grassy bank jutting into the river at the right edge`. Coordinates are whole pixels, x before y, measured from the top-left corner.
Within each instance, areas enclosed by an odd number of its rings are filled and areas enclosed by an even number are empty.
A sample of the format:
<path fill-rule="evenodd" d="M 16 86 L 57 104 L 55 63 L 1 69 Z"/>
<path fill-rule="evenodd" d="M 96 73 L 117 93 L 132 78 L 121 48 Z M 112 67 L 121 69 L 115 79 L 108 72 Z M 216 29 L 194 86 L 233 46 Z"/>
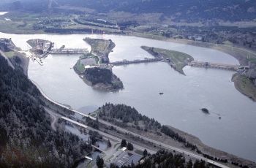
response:
<path fill-rule="evenodd" d="M 235 74 L 232 77 L 235 87 L 238 91 L 256 101 L 256 86 L 244 75 Z"/>

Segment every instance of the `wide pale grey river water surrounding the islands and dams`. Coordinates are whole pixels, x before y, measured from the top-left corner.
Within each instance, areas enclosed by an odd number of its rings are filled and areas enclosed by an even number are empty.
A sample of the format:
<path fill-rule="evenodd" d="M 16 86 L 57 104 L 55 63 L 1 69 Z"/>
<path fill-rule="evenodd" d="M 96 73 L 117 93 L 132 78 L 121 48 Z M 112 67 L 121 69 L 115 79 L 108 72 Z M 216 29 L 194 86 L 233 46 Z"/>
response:
<path fill-rule="evenodd" d="M 36 38 L 55 42 L 55 47 L 89 50 L 84 37 L 112 39 L 116 47 L 110 53 L 110 61 L 152 58 L 140 49 L 147 45 L 178 50 L 198 61 L 238 64 L 235 58 L 217 50 L 138 37 L 1 33 L 0 37 L 12 38 L 23 50 L 29 49 L 26 40 Z M 108 93 L 94 90 L 75 74 L 71 68 L 78 57 L 50 55 L 42 60 L 43 66 L 30 61 L 29 78 L 50 98 L 81 112 L 91 112 L 105 102 L 127 104 L 143 115 L 199 137 L 206 145 L 256 161 L 256 103 L 236 91 L 231 82 L 234 72 L 186 66 L 184 76 L 162 62 L 116 66 L 113 72 L 123 81 L 124 90 Z M 164 94 L 160 96 L 159 92 Z M 203 114 L 203 107 L 211 114 Z"/>

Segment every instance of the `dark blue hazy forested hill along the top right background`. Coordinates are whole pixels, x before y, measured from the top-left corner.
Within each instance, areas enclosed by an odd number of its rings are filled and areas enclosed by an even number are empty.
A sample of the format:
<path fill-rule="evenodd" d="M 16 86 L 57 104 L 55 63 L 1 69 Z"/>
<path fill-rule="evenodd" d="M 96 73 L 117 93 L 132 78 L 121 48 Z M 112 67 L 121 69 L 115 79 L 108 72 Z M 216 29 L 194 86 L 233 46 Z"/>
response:
<path fill-rule="evenodd" d="M 256 18 L 255 0 L 144 0 L 120 9 L 127 12 L 162 12 L 177 20 Z"/>

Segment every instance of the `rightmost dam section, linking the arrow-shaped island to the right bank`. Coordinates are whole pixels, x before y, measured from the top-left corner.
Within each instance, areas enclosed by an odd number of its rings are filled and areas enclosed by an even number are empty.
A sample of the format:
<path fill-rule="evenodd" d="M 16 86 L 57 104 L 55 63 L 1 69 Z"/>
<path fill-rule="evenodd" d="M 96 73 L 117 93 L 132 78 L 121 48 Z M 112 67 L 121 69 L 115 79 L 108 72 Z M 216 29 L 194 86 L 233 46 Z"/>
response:
<path fill-rule="evenodd" d="M 191 61 L 189 66 L 197 66 L 197 67 L 205 67 L 205 68 L 213 68 L 213 69 L 225 69 L 230 71 L 238 71 L 239 65 L 231 65 L 231 64 L 219 64 L 219 63 L 211 63 L 204 61 Z"/>

